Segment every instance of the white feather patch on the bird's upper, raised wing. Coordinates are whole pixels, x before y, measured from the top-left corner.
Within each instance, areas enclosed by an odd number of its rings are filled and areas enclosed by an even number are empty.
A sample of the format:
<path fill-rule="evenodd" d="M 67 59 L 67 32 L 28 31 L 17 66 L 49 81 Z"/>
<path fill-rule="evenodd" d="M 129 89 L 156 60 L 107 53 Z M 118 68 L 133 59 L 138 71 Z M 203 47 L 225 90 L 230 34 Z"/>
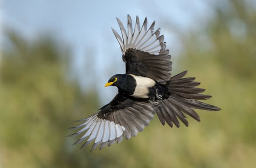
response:
<path fill-rule="evenodd" d="M 160 29 L 154 32 L 155 21 L 151 24 L 147 30 L 148 20 L 145 18 L 142 27 L 140 28 L 140 21 L 138 16 L 136 17 L 135 29 L 132 31 L 131 16 L 128 15 L 128 33 L 126 33 L 123 23 L 117 18 L 118 25 L 121 30 L 121 35 L 112 28 L 112 31 L 121 47 L 122 54 L 125 55 L 125 51 L 129 48 L 134 48 L 140 51 L 148 52 L 149 54 L 158 55 L 161 48 L 164 48 L 163 41 L 164 36 L 160 35 Z"/>

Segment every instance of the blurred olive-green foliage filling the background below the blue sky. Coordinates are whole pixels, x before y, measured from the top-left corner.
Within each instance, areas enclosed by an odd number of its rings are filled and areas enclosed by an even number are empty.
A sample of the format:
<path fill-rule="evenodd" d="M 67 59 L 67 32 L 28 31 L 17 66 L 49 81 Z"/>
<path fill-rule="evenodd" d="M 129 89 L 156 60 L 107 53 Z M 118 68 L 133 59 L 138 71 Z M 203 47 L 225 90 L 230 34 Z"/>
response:
<path fill-rule="evenodd" d="M 69 48 L 50 37 L 29 42 L 7 32 L 9 47 L 0 57 L 0 168 L 254 167 L 256 11 L 239 0 L 214 8 L 206 27 L 183 37 L 183 56 L 174 64 L 197 76 L 213 95 L 207 102 L 222 110 L 197 110 L 202 121 L 189 118 L 187 128 L 163 127 L 155 117 L 136 138 L 93 152 L 72 146 L 78 137 L 66 137 L 72 120 L 100 107 L 100 93 L 83 92 L 69 78 Z"/>

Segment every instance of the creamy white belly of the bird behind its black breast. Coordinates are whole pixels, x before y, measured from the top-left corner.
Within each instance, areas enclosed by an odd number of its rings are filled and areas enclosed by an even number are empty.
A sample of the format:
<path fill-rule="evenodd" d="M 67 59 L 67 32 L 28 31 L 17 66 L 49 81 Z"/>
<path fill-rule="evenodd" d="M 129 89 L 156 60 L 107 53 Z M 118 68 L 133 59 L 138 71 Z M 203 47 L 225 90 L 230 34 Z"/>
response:
<path fill-rule="evenodd" d="M 131 95 L 136 98 L 148 98 L 148 88 L 151 88 L 155 85 L 155 81 L 153 79 L 132 75 L 136 80 L 136 87 L 134 93 Z"/>

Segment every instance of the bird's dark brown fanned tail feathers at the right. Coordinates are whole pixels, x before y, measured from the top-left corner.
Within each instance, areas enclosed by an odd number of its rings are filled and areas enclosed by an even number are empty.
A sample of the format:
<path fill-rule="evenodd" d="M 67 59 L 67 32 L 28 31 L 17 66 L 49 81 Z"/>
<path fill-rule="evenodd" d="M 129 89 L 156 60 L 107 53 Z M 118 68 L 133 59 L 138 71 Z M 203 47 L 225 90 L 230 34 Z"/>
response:
<path fill-rule="evenodd" d="M 182 78 L 186 74 L 187 71 L 184 71 L 171 77 L 166 84 L 171 95 L 169 98 L 159 101 L 160 106 L 156 106 L 156 113 L 163 125 L 167 122 L 170 127 L 173 127 L 173 123 L 176 127 L 180 127 L 179 119 L 188 126 L 187 117 L 184 114 L 200 121 L 199 115 L 193 108 L 207 111 L 220 110 L 216 106 L 198 101 L 208 99 L 211 96 L 201 94 L 205 89 L 196 88 L 200 82 L 195 82 L 195 77 Z"/>

